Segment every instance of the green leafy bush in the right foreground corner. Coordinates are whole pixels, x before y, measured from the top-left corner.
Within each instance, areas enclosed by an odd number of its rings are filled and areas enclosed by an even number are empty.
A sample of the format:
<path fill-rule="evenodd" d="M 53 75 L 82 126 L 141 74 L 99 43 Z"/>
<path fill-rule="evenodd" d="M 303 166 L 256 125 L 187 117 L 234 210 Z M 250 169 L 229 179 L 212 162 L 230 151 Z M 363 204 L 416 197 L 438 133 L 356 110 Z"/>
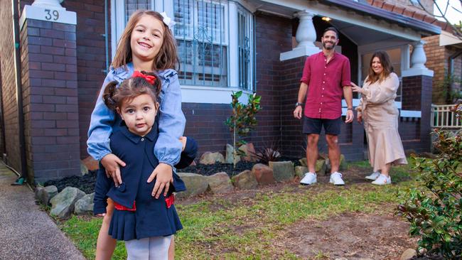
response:
<path fill-rule="evenodd" d="M 456 107 L 460 118 L 462 106 Z M 462 258 L 462 131 L 436 129 L 435 159 L 416 158 L 419 188 L 403 195 L 400 212 L 411 223 L 409 233 L 420 236 L 418 249 L 445 259 Z M 418 251 L 419 251 L 418 250 Z"/>

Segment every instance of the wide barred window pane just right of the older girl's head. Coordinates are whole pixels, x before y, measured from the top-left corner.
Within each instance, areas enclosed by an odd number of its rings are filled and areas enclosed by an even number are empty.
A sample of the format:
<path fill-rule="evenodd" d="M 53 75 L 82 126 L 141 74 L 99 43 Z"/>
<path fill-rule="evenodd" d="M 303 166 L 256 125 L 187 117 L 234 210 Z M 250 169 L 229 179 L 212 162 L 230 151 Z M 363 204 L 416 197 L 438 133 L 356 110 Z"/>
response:
<path fill-rule="evenodd" d="M 226 87 L 227 4 L 175 0 L 173 6 L 181 84 Z"/>

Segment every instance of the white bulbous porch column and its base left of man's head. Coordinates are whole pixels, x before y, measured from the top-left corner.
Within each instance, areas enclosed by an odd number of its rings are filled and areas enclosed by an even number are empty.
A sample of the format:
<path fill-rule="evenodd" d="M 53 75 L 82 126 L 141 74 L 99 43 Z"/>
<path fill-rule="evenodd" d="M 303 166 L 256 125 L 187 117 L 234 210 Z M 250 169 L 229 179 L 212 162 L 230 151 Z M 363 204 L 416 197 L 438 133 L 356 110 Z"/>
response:
<path fill-rule="evenodd" d="M 295 40 L 298 45 L 291 51 L 281 53 L 280 60 L 290 60 L 301 56 L 309 56 L 321 51 L 314 45 L 316 41 L 316 30 L 313 25 L 313 16 L 315 14 L 307 10 L 299 11 L 295 14 L 300 19 L 299 28 L 297 28 Z"/>

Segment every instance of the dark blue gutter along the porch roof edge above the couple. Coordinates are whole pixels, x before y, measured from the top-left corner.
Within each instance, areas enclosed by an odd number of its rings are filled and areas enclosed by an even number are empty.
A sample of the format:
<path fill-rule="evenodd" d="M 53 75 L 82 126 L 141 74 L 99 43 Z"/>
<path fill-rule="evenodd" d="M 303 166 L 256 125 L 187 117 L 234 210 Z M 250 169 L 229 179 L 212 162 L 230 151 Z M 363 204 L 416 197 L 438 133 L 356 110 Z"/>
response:
<path fill-rule="evenodd" d="M 393 13 L 391 11 L 380 9 L 375 6 L 371 6 L 370 4 L 362 4 L 351 0 L 321 0 L 320 2 L 324 2 L 326 4 L 335 4 L 336 6 L 342 6 L 345 9 L 353 9 L 359 13 L 383 18 L 387 21 L 399 23 L 405 27 L 425 31 L 431 35 L 441 34 L 441 28 L 439 26 L 434 26 L 433 24 L 426 23 L 424 21 L 419 21 L 414 18 L 403 16 L 399 13 Z"/>

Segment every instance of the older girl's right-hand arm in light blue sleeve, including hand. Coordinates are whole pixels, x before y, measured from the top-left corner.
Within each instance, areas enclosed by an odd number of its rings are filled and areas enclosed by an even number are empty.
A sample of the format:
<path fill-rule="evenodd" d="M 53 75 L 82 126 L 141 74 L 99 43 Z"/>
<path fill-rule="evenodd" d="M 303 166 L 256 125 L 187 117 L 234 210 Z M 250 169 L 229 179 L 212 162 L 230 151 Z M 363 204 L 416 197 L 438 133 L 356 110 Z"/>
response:
<path fill-rule="evenodd" d="M 173 181 L 172 167 L 180 161 L 182 144 L 179 138 L 183 135 L 186 124 L 185 116 L 181 111 L 181 87 L 178 75 L 173 75 L 168 80 L 170 82 L 159 113 L 159 137 L 154 146 L 154 155 L 159 159 L 159 166 L 148 178 L 148 183 L 156 178 L 152 192 L 156 198 L 159 198 L 163 190 L 166 195 Z"/>

